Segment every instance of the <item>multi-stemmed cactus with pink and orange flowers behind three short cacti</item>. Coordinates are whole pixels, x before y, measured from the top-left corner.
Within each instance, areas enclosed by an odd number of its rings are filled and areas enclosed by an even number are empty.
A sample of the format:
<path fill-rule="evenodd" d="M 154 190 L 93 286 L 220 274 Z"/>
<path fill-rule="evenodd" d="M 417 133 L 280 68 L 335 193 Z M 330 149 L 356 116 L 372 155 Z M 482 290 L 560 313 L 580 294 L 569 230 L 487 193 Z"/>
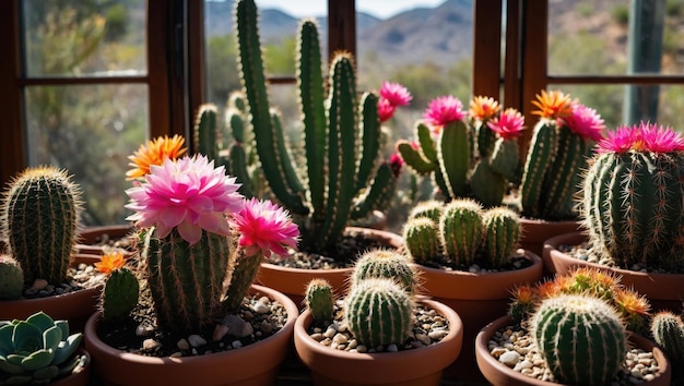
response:
<path fill-rule="evenodd" d="M 432 174 L 446 201 L 472 196 L 486 207 L 500 205 L 508 181 L 517 179 L 523 118 L 515 109 L 498 114 L 493 98 L 475 97 L 467 124 L 461 108 L 451 96 L 434 99 L 415 126 L 417 142 L 401 140 L 397 149 L 414 172 Z"/>

